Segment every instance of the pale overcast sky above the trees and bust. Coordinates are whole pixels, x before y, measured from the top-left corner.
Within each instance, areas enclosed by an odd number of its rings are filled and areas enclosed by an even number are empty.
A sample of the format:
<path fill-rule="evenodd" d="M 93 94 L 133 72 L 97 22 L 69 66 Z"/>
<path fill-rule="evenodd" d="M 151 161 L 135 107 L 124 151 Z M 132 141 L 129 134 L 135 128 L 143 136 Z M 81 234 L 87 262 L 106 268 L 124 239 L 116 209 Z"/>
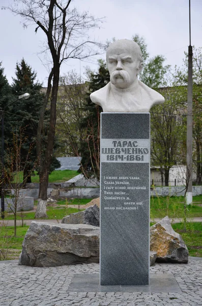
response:
<path fill-rule="evenodd" d="M 9 0 L 0 0 L 0 6 L 8 4 Z M 172 67 L 182 65 L 189 44 L 189 0 L 74 0 L 71 6 L 80 12 L 89 11 L 95 17 L 105 17 L 102 28 L 92 32 L 92 40 L 105 43 L 112 37 L 131 39 L 139 34 L 145 37 L 150 56 L 161 54 L 166 57 L 166 64 Z M 201 16 L 202 0 L 191 0 L 191 43 L 196 47 L 202 46 Z M 20 17 L 0 10 L 0 62 L 11 83 L 16 62 L 23 57 L 46 86 L 48 71 L 40 55 L 45 37 L 39 30 L 35 34 L 36 26 L 24 30 L 20 22 Z M 104 55 L 100 57 L 104 58 Z M 97 58 L 91 61 L 71 60 L 63 64 L 62 74 L 76 69 L 83 75 L 86 66 L 97 68 Z"/>

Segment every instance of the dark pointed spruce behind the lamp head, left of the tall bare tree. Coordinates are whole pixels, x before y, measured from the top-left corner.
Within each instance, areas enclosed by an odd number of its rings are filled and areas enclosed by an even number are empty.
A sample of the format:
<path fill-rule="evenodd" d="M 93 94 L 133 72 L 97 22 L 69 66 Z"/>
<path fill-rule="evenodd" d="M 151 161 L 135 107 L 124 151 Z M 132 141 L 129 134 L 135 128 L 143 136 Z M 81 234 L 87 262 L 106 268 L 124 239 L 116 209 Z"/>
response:
<path fill-rule="evenodd" d="M 21 148 L 21 163 L 26 163 L 23 170 L 23 182 L 31 183 L 31 174 L 36 166 L 36 136 L 39 122 L 39 112 L 43 104 L 44 94 L 41 92 L 42 84 L 37 81 L 37 73 L 29 66 L 24 59 L 16 64 L 16 77 L 13 78 L 12 92 L 15 97 L 30 93 L 30 98 L 20 99 L 12 105 L 10 125 L 13 131 L 23 130 L 26 141 Z M 44 120 L 44 139 L 46 143 L 47 135 L 47 119 L 49 111 L 45 113 Z M 12 138 L 10 138 L 12 139 Z M 44 152 L 42 156 L 44 155 Z M 27 161 L 28 156 L 28 161 Z M 55 164 L 55 158 L 53 159 Z M 60 167 L 60 163 L 55 164 Z M 54 168 L 54 167 L 53 167 Z M 51 170 L 53 170 L 51 168 Z"/>

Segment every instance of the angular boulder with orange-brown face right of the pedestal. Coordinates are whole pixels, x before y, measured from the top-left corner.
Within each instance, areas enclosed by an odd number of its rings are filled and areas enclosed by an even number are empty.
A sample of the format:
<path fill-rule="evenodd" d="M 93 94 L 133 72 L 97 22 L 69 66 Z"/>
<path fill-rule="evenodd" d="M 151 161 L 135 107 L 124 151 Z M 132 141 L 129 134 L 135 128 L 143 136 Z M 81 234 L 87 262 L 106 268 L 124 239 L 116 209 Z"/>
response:
<path fill-rule="evenodd" d="M 157 262 L 188 263 L 188 249 L 168 216 L 150 227 L 150 250 L 157 253 Z"/>

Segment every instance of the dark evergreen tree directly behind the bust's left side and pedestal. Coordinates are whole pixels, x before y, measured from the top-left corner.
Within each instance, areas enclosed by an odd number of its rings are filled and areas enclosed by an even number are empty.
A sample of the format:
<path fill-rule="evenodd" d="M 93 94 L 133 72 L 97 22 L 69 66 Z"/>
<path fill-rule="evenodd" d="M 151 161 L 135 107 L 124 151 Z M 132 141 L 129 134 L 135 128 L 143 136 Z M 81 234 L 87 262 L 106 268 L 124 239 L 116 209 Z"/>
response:
<path fill-rule="evenodd" d="M 85 140 L 81 143 L 80 153 L 82 156 L 79 171 L 86 177 L 92 175 L 100 179 L 99 163 L 100 163 L 100 113 L 102 108 L 95 105 L 90 94 L 109 82 L 109 72 L 106 63 L 99 60 L 99 69 L 97 73 L 90 72 L 89 90 L 85 95 L 84 110 L 86 115 L 81 118 L 80 126 L 86 128 Z"/>

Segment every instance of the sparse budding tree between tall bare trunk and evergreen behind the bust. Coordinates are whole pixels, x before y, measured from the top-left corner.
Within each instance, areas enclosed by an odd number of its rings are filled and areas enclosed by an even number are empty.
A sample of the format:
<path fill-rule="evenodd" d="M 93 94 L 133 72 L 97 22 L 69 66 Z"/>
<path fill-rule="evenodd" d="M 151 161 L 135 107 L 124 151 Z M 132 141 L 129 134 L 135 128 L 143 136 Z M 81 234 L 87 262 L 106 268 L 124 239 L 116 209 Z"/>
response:
<path fill-rule="evenodd" d="M 85 137 L 86 128 L 78 122 L 85 115 L 84 97 L 88 88 L 80 75 L 74 70 L 60 78 L 57 95 L 56 136 L 63 144 L 60 147 L 62 156 L 79 156 L 81 142 Z"/>

